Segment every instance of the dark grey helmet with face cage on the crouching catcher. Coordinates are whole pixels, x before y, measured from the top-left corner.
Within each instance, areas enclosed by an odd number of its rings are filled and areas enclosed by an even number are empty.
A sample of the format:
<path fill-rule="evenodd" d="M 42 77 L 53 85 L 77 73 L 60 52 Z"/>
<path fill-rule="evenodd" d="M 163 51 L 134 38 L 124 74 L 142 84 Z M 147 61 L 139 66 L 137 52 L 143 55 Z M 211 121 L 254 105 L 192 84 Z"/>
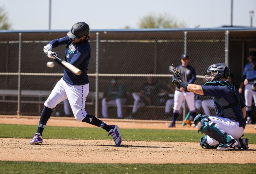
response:
<path fill-rule="evenodd" d="M 205 76 L 206 82 L 213 82 L 220 80 L 221 78 L 228 79 L 230 69 L 225 65 L 225 63 L 216 63 L 208 67 L 207 73 L 211 74 Z"/>

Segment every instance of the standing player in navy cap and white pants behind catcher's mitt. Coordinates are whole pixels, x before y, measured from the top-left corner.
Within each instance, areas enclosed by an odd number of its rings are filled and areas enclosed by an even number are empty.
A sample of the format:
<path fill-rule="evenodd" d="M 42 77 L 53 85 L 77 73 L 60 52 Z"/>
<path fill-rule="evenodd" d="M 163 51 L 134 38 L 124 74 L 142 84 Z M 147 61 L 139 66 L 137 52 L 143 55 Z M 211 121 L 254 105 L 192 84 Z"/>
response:
<path fill-rule="evenodd" d="M 180 69 L 181 71 L 181 78 L 185 81 L 188 81 L 188 83 L 194 83 L 196 80 L 196 71 L 195 69 L 188 64 L 189 57 L 187 54 L 181 55 L 181 65 L 177 67 L 177 69 Z M 174 79 L 174 77 L 173 77 Z M 189 111 L 193 118 L 196 116 L 196 108 L 195 108 L 195 95 L 194 93 L 191 93 L 187 90 L 185 90 L 183 87 L 177 85 L 174 92 L 174 106 L 173 106 L 173 117 L 172 122 L 168 126 L 175 127 L 175 121 L 176 118 L 179 116 L 179 111 L 181 109 L 181 104 L 186 99 L 187 105 L 189 107 Z M 185 106 L 184 106 L 185 107 Z M 192 121 L 192 120 L 190 120 Z"/>

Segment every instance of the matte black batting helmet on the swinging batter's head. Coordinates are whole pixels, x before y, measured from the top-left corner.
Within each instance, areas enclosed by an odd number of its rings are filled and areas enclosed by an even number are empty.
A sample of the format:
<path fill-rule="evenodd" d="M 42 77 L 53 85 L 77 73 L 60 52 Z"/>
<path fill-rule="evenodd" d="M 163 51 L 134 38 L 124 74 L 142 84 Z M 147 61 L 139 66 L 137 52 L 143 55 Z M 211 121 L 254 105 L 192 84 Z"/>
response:
<path fill-rule="evenodd" d="M 71 39 L 79 39 L 83 36 L 86 36 L 89 34 L 90 27 L 85 22 L 77 22 L 75 23 L 71 30 L 67 33 L 67 35 Z"/>

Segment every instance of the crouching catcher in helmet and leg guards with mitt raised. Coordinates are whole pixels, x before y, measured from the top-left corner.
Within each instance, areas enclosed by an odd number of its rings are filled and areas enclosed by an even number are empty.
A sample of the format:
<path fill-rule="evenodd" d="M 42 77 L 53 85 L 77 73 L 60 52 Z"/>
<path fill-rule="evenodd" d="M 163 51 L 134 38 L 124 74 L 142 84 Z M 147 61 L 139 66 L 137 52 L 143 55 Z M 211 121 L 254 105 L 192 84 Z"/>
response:
<path fill-rule="evenodd" d="M 248 139 L 241 138 L 245 129 L 245 102 L 239 91 L 230 84 L 230 70 L 225 63 L 216 63 L 208 67 L 205 76 L 206 83 L 191 84 L 181 79 L 180 71 L 169 67 L 174 75 L 173 85 L 180 85 L 186 90 L 202 96 L 212 96 L 216 116 L 198 114 L 194 119 L 198 132 L 205 134 L 200 139 L 201 147 L 229 150 L 230 148 L 248 148 Z"/>

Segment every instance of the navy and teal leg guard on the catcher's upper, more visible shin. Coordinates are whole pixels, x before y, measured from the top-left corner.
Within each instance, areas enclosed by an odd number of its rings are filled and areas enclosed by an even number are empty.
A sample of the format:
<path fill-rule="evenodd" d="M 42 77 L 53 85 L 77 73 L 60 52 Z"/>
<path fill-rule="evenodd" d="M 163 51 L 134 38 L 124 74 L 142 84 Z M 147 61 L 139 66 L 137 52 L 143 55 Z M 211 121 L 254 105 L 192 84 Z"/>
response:
<path fill-rule="evenodd" d="M 205 117 L 197 122 L 197 129 L 198 132 L 201 134 L 208 135 L 209 137 L 215 139 L 220 143 L 229 142 L 231 137 L 228 136 L 226 133 L 222 133 L 216 126 L 215 123 L 211 122 L 208 117 Z"/>

